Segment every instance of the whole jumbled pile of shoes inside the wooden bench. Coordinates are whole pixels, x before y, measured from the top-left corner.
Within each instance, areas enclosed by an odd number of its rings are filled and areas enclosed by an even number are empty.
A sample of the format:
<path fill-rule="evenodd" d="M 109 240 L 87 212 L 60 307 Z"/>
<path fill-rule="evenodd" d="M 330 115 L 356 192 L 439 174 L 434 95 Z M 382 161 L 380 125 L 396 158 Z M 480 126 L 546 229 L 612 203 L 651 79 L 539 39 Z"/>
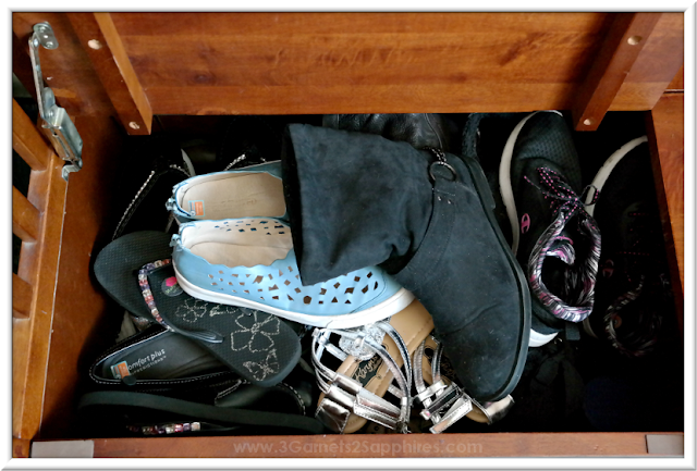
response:
<path fill-rule="evenodd" d="M 223 171 L 188 165 L 161 201 L 175 234 L 121 227 L 97 257 L 140 332 L 95 361 L 81 409 L 145 435 L 440 433 L 499 421 L 528 348 L 580 323 L 646 351 L 617 322 L 652 286 L 622 238 L 645 209 L 621 169 L 646 138 L 585 189 L 561 113 L 509 117 L 503 148 L 498 115 L 470 115 L 462 148 L 439 114 L 326 115 L 222 146 L 240 153 Z M 615 278 L 596 283 L 601 257 Z M 645 311 L 626 322 L 655 334 Z"/>

